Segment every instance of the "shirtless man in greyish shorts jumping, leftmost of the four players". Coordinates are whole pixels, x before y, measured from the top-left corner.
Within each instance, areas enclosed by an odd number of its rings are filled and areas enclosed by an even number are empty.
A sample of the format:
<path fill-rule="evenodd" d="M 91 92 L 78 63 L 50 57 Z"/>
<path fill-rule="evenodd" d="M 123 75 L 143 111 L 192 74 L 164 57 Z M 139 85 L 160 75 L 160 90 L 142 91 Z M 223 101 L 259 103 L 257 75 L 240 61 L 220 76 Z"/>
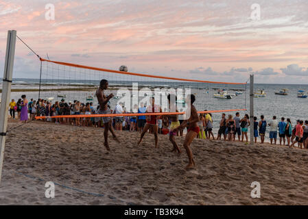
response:
<path fill-rule="evenodd" d="M 108 108 L 108 101 L 112 99 L 113 94 L 109 94 L 108 96 L 106 96 L 104 94 L 104 90 L 107 90 L 107 89 L 108 89 L 108 81 L 105 79 L 102 79 L 102 81 L 100 81 L 99 83 L 99 88 L 97 88 L 96 93 L 95 93 L 95 95 L 97 96 L 97 101 L 99 103 L 99 111 L 97 112 L 98 114 L 111 114 L 111 111 Z M 104 146 L 106 147 L 108 151 L 110 151 L 109 144 L 108 144 L 108 131 L 112 133 L 113 138 L 115 138 L 117 142 L 119 142 L 119 139 L 115 135 L 115 131 L 112 128 L 110 117 L 102 117 L 102 120 L 103 120 L 104 127 L 105 127 Z"/>

